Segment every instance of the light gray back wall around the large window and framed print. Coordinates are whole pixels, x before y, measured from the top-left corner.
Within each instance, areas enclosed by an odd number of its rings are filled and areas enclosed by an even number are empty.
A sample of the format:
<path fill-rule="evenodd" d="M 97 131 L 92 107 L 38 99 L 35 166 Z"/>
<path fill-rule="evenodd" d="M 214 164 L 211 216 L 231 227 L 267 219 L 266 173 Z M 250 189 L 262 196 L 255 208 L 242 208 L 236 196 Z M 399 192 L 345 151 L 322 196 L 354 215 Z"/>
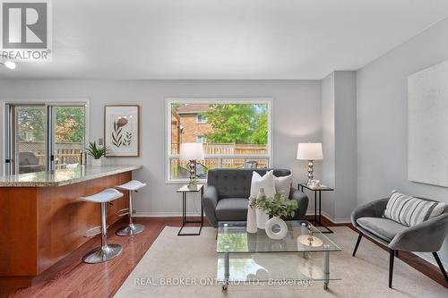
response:
<path fill-rule="evenodd" d="M 289 168 L 296 184 L 306 179 L 306 162 L 296 159 L 297 142 L 322 140 L 320 93 L 320 81 L 0 80 L 0 100 L 90 98 L 90 140 L 102 138 L 104 105 L 141 105 L 142 157 L 108 158 L 106 163 L 144 166 L 134 175 L 148 183 L 138 193 L 136 209 L 161 216 L 180 216 L 182 206 L 175 192 L 178 185 L 165 184 L 165 98 L 274 98 L 273 166 Z M 0 131 L 3 125 L 0 119 Z M 317 163 L 316 176 L 320 175 Z M 191 207 L 197 213 L 199 202 L 194 200 Z"/>

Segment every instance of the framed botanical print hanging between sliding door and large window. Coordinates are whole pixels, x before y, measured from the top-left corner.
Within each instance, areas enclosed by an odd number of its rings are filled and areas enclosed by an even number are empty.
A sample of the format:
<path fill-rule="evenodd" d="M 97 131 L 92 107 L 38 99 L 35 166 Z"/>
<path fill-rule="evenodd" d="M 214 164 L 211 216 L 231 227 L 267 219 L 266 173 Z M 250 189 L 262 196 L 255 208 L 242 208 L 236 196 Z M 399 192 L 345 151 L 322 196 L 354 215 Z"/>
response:
<path fill-rule="evenodd" d="M 138 157 L 139 106 L 105 106 L 104 122 L 108 157 Z"/>

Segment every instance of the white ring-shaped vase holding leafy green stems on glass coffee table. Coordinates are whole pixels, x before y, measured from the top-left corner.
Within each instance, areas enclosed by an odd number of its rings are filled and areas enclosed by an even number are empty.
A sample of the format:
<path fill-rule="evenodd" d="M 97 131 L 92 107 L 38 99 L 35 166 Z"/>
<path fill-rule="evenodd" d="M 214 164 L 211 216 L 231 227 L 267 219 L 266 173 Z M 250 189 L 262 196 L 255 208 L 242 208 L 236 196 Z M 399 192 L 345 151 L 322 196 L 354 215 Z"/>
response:
<path fill-rule="evenodd" d="M 282 239 L 288 233 L 288 226 L 280 217 L 294 217 L 297 209 L 297 200 L 283 198 L 280 193 L 276 193 L 273 198 L 260 198 L 253 200 L 251 207 L 265 210 L 271 217 L 265 226 L 265 231 L 271 239 Z M 279 231 L 272 231 L 273 226 L 280 226 Z"/>

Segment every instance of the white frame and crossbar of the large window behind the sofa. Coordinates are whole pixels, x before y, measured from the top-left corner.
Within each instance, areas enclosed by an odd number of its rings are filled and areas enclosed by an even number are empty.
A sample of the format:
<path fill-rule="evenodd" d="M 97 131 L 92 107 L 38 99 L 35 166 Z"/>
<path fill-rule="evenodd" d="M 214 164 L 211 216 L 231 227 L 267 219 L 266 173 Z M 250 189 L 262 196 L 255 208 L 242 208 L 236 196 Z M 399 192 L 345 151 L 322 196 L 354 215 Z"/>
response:
<path fill-rule="evenodd" d="M 268 106 L 268 154 L 263 155 L 206 155 L 205 158 L 218 159 L 223 158 L 239 158 L 239 159 L 255 159 L 267 158 L 268 167 L 272 167 L 273 163 L 273 98 L 165 98 L 165 183 L 166 184 L 183 184 L 188 183 L 188 179 L 172 179 L 170 177 L 170 164 L 172 159 L 178 158 L 177 154 L 170 154 L 171 150 L 171 104 L 266 104 Z M 199 183 L 206 183 L 206 179 L 200 179 Z"/>

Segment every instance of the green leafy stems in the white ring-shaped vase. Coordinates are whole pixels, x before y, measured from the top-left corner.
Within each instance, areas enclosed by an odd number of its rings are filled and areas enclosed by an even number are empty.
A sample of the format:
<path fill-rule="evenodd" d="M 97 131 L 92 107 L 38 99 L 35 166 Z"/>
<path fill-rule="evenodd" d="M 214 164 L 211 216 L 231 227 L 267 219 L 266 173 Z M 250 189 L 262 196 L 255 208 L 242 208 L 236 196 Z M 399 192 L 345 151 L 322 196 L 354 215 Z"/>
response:
<path fill-rule="evenodd" d="M 273 198 L 262 197 L 251 202 L 252 208 L 267 211 L 271 217 L 294 217 L 297 210 L 297 200 L 286 200 L 280 193 Z"/>

